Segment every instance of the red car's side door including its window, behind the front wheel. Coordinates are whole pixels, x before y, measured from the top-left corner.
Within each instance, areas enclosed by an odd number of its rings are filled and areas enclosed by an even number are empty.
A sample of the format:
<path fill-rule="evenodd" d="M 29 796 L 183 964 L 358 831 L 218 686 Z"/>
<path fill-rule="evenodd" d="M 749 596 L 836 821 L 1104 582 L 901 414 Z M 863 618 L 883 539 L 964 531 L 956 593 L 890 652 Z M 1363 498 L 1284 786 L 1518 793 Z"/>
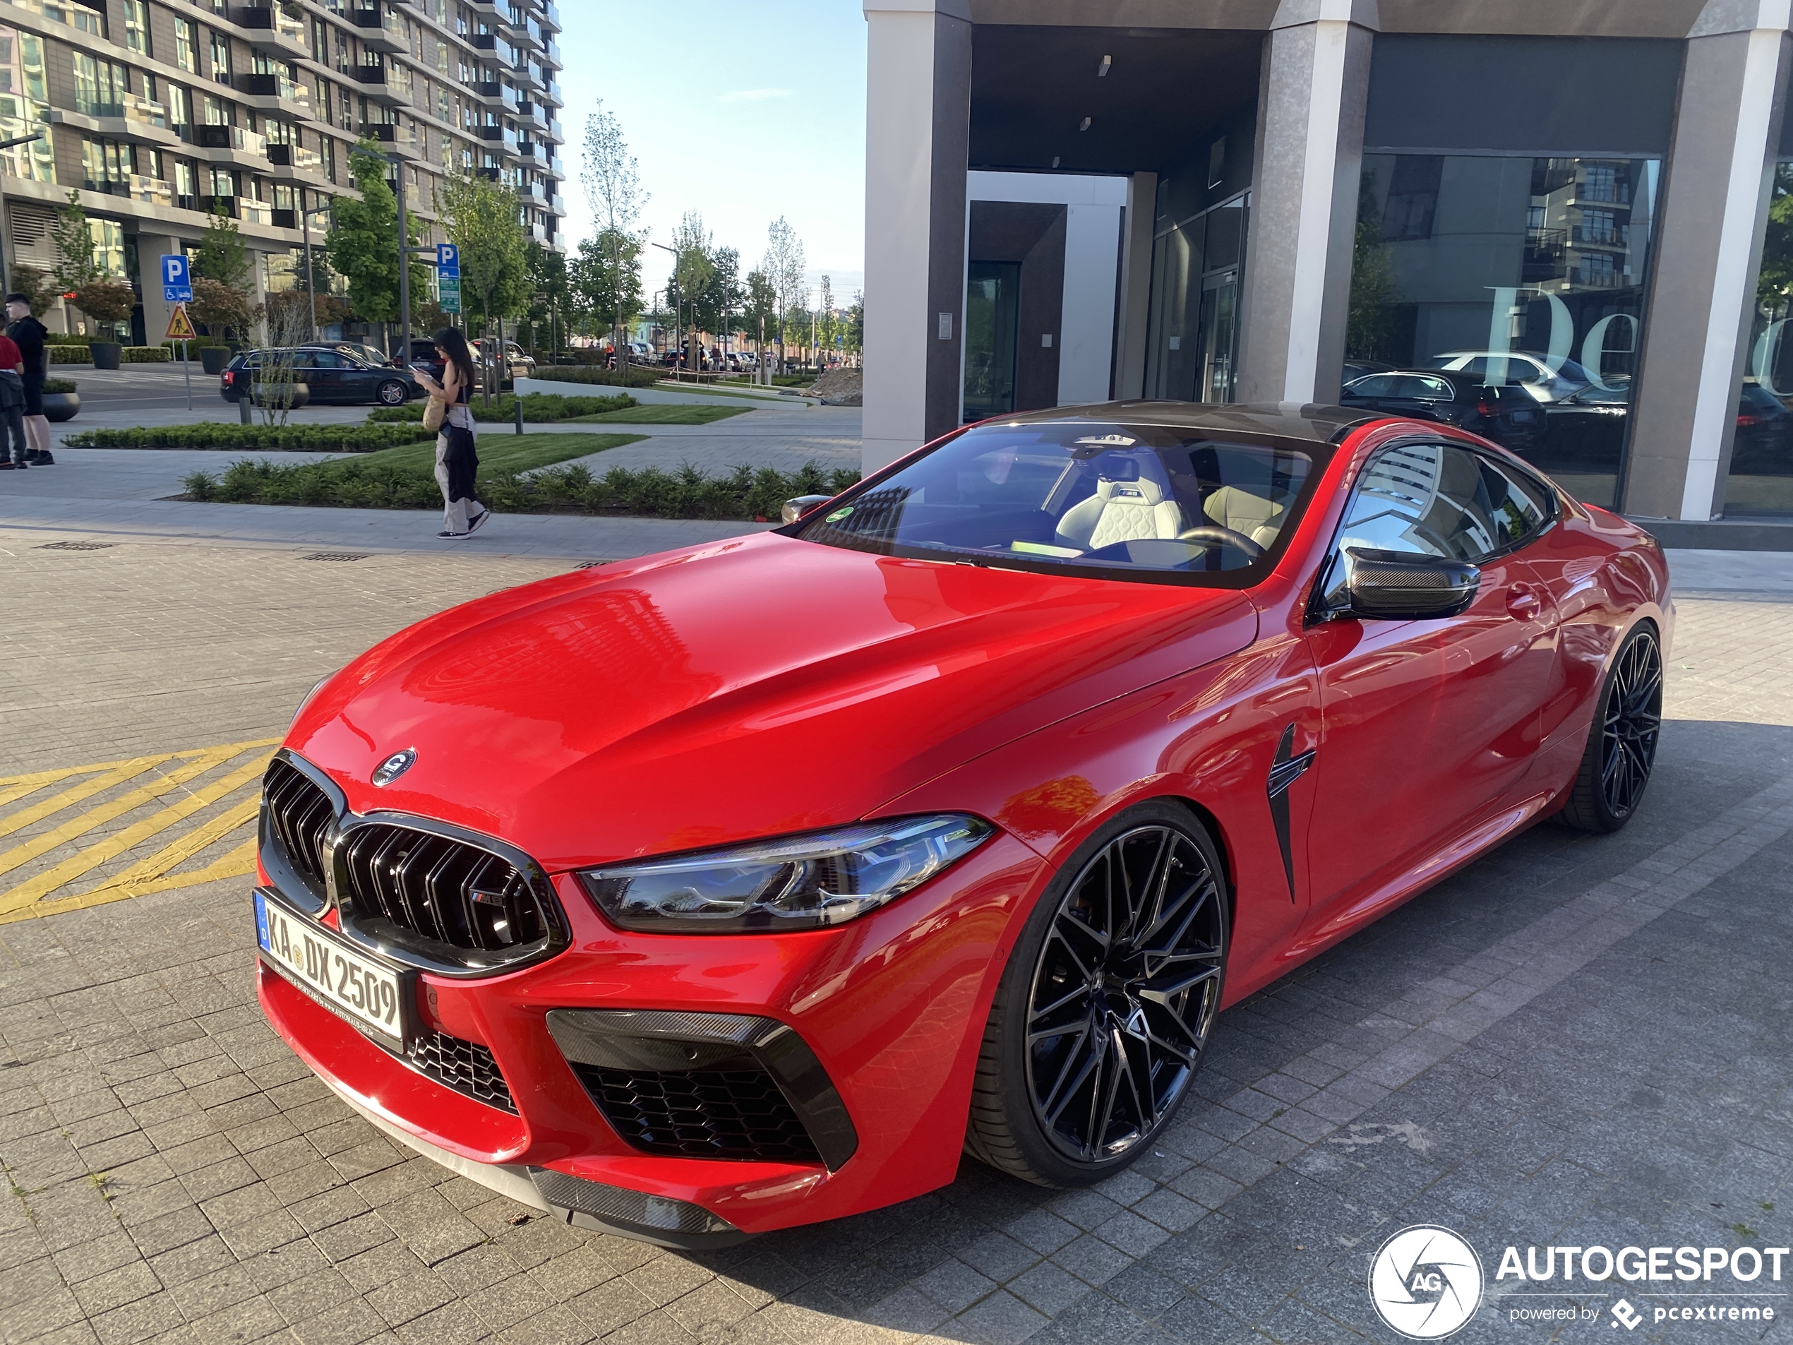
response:
<path fill-rule="evenodd" d="M 1379 450 L 1352 490 L 1334 556 L 1445 556 L 1477 565 L 1481 583 L 1456 617 L 1309 628 L 1321 699 L 1309 872 L 1321 924 L 1348 918 L 1497 809 L 1537 751 L 1556 613 L 1524 551 L 1551 506 L 1522 475 L 1463 445 L 1406 441 Z"/>

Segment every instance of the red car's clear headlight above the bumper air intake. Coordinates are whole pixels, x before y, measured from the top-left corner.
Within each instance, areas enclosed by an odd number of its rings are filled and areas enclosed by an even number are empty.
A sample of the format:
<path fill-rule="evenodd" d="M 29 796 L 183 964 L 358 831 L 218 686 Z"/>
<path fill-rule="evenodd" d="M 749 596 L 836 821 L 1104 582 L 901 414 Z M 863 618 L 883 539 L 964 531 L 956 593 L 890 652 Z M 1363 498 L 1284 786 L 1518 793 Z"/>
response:
<path fill-rule="evenodd" d="M 956 814 L 895 818 L 784 841 L 613 864 L 579 875 L 622 929 L 739 934 L 839 925 L 927 882 L 995 829 Z"/>

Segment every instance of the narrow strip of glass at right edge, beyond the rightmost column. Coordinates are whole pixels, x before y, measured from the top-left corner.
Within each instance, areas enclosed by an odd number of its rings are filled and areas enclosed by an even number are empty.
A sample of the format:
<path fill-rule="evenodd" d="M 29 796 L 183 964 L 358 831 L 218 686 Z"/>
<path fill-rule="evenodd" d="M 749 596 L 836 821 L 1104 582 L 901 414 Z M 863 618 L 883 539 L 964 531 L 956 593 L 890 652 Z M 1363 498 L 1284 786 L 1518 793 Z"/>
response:
<path fill-rule="evenodd" d="M 1743 387 L 1725 515 L 1793 515 L 1793 161 L 1775 165 L 1755 305 L 1743 332 Z"/>

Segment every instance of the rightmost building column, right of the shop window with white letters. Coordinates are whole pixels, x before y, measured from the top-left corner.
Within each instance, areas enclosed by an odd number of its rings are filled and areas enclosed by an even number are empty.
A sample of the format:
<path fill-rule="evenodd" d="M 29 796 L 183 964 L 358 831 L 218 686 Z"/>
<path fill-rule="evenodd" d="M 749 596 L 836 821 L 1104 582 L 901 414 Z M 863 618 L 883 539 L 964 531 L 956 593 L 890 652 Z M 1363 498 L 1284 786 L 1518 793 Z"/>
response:
<path fill-rule="evenodd" d="M 1789 0 L 1709 0 L 1687 34 L 1632 400 L 1632 515 L 1705 522 L 1723 511 L 1780 145 L 1788 20 Z"/>

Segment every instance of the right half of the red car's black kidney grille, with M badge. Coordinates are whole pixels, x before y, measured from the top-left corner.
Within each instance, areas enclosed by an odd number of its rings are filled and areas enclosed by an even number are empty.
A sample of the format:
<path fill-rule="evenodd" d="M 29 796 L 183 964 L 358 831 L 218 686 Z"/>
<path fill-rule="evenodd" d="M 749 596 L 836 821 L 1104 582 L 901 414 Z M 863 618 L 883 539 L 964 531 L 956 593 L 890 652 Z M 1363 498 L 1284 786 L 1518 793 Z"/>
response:
<path fill-rule="evenodd" d="M 357 924 L 373 916 L 437 943 L 484 952 L 534 943 L 550 933 L 529 881 L 475 845 L 368 823 L 342 836 L 337 859 Z"/>

